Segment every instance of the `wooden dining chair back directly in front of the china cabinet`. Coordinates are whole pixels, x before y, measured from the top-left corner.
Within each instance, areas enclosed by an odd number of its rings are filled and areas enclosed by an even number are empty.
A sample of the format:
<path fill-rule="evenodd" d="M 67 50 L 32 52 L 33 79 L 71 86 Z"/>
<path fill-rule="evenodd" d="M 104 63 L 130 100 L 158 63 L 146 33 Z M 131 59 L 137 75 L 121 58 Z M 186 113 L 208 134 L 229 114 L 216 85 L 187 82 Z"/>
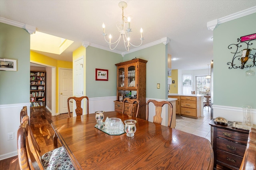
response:
<path fill-rule="evenodd" d="M 136 104 L 137 107 L 134 107 L 134 104 Z M 135 108 L 136 108 L 136 110 L 135 110 Z M 123 100 L 123 111 L 122 111 L 123 114 L 137 117 L 139 108 L 140 108 L 140 101 L 138 99 L 125 98 Z M 126 110 L 128 110 L 128 111 L 126 111 Z"/>

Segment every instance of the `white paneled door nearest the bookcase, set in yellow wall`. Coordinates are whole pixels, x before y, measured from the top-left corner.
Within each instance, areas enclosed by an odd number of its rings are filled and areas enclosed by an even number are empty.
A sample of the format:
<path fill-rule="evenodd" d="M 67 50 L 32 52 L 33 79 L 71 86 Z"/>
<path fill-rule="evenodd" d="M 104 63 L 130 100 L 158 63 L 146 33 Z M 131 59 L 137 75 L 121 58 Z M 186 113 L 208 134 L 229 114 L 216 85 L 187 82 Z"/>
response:
<path fill-rule="evenodd" d="M 73 70 L 60 68 L 60 114 L 68 113 L 67 100 L 73 96 Z"/>

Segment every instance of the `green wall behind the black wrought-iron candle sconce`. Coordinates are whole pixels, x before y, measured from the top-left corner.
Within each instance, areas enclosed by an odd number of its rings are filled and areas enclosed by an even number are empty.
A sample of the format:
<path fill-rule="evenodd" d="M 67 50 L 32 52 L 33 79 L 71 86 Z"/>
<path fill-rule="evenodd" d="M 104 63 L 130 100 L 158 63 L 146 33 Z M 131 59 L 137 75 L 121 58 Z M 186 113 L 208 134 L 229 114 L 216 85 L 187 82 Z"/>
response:
<path fill-rule="evenodd" d="M 214 105 L 241 107 L 250 105 L 256 109 L 256 76 L 245 76 L 244 69 L 229 69 L 228 62 L 232 62 L 230 44 L 237 44 L 237 39 L 256 33 L 256 13 L 228 21 L 214 29 L 214 68 L 213 89 Z M 253 43 L 251 54 L 256 53 L 256 41 Z M 250 49 L 252 49 L 252 46 Z M 247 47 L 242 47 L 246 49 Z M 236 61 L 240 65 L 240 61 Z M 256 72 L 256 66 L 251 70 Z"/>

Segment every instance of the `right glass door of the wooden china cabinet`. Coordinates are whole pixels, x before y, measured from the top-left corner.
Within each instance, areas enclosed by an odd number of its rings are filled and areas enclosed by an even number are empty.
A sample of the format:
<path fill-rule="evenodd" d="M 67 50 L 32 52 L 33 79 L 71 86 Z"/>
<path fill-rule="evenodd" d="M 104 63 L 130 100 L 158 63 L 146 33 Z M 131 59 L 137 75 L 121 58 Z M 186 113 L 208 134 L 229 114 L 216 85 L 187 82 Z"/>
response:
<path fill-rule="evenodd" d="M 128 64 L 126 66 L 127 68 L 127 84 L 126 88 L 128 89 L 136 89 L 137 88 L 137 78 L 136 78 L 136 72 L 137 72 L 137 64 Z"/>

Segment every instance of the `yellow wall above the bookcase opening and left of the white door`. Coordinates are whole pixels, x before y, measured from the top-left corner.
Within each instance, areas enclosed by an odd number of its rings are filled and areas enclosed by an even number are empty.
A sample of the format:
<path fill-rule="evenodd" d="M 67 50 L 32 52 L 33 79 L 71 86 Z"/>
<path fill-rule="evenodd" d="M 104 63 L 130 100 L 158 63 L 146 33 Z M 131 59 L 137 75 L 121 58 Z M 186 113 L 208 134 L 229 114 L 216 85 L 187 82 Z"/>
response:
<path fill-rule="evenodd" d="M 59 91 L 59 68 L 73 68 L 73 63 L 55 60 L 45 55 L 30 51 L 30 62 L 42 63 L 56 68 L 56 113 L 58 113 L 58 91 Z"/>

